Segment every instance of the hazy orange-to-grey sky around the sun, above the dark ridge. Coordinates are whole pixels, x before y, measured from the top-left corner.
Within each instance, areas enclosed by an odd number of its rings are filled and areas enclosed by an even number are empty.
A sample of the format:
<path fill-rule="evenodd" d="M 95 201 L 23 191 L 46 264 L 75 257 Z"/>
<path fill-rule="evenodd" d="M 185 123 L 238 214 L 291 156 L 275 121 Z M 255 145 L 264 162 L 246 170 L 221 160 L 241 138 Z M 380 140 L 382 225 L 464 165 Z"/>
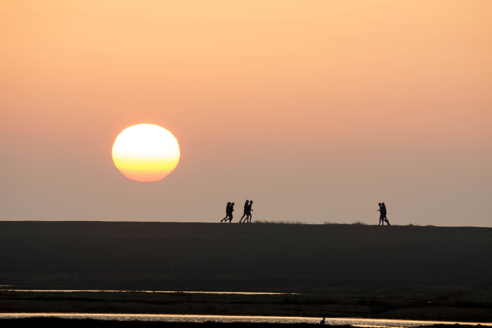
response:
<path fill-rule="evenodd" d="M 0 2 L 0 219 L 492 227 L 492 1 Z M 125 178 L 160 125 L 181 161 Z M 233 222 L 234 222 L 233 221 Z"/>

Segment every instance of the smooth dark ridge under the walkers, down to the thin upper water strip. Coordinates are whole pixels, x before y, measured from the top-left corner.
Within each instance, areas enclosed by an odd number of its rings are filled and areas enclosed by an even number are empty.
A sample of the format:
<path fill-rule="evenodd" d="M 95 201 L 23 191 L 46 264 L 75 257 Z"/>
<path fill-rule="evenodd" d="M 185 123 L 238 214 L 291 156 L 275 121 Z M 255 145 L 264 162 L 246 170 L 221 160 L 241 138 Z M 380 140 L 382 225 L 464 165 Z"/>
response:
<path fill-rule="evenodd" d="M 491 283 L 492 228 L 0 222 L 16 288 L 322 293 Z"/>

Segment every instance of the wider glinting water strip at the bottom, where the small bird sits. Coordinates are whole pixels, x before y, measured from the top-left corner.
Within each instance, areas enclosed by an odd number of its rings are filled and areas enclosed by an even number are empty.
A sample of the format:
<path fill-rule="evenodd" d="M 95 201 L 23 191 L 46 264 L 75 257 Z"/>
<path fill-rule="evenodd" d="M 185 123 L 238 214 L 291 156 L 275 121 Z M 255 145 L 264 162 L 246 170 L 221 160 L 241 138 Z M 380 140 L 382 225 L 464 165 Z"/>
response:
<path fill-rule="evenodd" d="M 164 322 L 246 322 L 275 324 L 317 324 L 322 318 L 306 317 L 260 317 L 260 316 L 215 316 L 215 315 L 174 315 L 174 314 L 102 314 L 102 313 L 0 313 L 0 319 L 20 319 L 33 317 L 56 317 L 63 319 L 95 319 L 119 321 L 164 321 Z M 357 327 L 418 327 L 434 324 L 460 324 L 492 326 L 492 323 L 469 323 L 451 321 L 417 321 L 387 319 L 327 318 L 330 325 L 352 325 Z"/>

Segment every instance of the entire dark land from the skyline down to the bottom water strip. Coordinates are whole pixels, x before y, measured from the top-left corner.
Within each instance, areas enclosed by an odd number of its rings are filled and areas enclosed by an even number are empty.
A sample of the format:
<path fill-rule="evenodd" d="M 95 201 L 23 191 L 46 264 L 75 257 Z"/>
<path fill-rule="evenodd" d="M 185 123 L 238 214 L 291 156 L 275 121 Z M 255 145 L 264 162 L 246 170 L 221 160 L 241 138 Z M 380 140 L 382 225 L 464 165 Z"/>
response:
<path fill-rule="evenodd" d="M 1 312 L 492 322 L 492 229 L 0 222 Z"/>

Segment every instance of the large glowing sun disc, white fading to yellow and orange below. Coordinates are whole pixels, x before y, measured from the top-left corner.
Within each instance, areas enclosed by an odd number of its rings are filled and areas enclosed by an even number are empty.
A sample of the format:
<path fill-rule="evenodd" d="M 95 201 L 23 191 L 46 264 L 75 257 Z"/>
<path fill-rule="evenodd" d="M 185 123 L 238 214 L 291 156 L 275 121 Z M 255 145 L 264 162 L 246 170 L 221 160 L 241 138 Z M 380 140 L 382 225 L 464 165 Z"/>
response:
<path fill-rule="evenodd" d="M 135 181 L 159 181 L 178 165 L 180 147 L 171 132 L 155 124 L 127 127 L 113 145 L 113 161 Z"/>

